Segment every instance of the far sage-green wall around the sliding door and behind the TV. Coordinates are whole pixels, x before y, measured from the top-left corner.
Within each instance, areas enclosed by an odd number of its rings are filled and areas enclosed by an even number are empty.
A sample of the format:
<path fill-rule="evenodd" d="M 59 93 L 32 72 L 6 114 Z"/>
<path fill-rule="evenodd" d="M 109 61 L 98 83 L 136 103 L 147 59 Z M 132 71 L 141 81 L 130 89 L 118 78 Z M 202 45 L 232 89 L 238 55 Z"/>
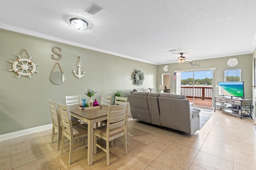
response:
<path fill-rule="evenodd" d="M 227 62 L 230 58 L 238 59 L 238 65 L 234 67 L 228 66 Z M 215 59 L 205 59 L 205 60 L 197 60 L 196 64 L 200 64 L 198 68 L 189 68 L 189 62 L 185 63 L 172 63 L 172 64 L 162 64 L 158 65 L 158 74 L 157 74 L 157 87 L 162 82 L 162 74 L 170 73 L 171 74 L 171 87 L 170 92 L 176 94 L 176 81 L 173 80 L 174 70 L 192 70 L 192 69 L 200 69 L 200 68 L 216 68 L 214 70 L 213 76 L 213 96 L 218 96 L 218 82 L 224 81 L 224 70 L 225 69 L 233 69 L 240 68 L 241 69 L 241 80 L 244 81 L 244 90 L 245 90 L 245 98 L 252 99 L 252 54 L 248 55 L 237 55 L 230 57 L 221 57 Z M 248 63 L 249 62 L 249 63 Z M 163 68 L 165 65 L 168 65 L 168 71 L 164 72 Z M 160 91 L 159 91 L 160 92 Z"/>

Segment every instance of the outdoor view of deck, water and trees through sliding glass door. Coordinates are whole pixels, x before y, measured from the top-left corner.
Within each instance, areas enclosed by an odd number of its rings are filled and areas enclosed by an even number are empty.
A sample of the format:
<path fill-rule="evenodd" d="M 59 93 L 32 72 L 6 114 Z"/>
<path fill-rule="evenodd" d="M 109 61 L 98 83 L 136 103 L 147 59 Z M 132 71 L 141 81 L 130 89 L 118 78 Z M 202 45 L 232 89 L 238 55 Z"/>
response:
<path fill-rule="evenodd" d="M 180 85 L 195 107 L 212 108 L 212 70 L 181 72 Z"/>

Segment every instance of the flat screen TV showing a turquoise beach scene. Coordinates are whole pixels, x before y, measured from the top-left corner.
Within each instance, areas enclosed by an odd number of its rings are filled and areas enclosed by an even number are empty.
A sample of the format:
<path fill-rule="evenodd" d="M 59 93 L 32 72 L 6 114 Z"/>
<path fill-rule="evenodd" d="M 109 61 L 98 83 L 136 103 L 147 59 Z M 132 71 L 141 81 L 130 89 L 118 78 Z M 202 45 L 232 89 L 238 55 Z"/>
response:
<path fill-rule="evenodd" d="M 244 98 L 244 82 L 218 82 L 218 95 Z"/>

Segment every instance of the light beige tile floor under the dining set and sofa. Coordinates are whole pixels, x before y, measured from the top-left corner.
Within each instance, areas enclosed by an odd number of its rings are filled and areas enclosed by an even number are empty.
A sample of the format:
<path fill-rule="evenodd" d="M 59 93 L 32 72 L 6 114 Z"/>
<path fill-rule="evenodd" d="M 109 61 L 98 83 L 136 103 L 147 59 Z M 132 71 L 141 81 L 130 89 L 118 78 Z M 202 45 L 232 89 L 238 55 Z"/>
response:
<path fill-rule="evenodd" d="M 0 141 L 0 169 L 255 170 L 254 120 L 213 113 L 194 135 L 158 129 L 129 117 L 128 154 L 114 141 L 109 166 L 100 149 L 88 166 L 87 148 L 75 151 L 68 165 L 68 148 L 60 154 L 56 141 L 51 144 L 52 129 Z"/>

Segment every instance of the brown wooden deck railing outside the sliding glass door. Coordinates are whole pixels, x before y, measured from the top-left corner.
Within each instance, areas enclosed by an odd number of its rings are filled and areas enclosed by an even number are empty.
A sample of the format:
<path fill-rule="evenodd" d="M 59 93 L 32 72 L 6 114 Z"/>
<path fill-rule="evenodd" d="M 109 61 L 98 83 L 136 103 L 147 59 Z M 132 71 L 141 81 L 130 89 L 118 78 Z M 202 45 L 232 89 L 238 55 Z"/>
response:
<path fill-rule="evenodd" d="M 195 89 L 195 90 L 193 90 Z M 212 100 L 212 87 L 188 87 L 181 86 L 182 94 L 186 96 L 186 98 L 194 98 L 195 99 L 210 99 Z M 194 91 L 194 93 L 193 93 Z M 193 95 L 194 94 L 194 95 Z"/>

